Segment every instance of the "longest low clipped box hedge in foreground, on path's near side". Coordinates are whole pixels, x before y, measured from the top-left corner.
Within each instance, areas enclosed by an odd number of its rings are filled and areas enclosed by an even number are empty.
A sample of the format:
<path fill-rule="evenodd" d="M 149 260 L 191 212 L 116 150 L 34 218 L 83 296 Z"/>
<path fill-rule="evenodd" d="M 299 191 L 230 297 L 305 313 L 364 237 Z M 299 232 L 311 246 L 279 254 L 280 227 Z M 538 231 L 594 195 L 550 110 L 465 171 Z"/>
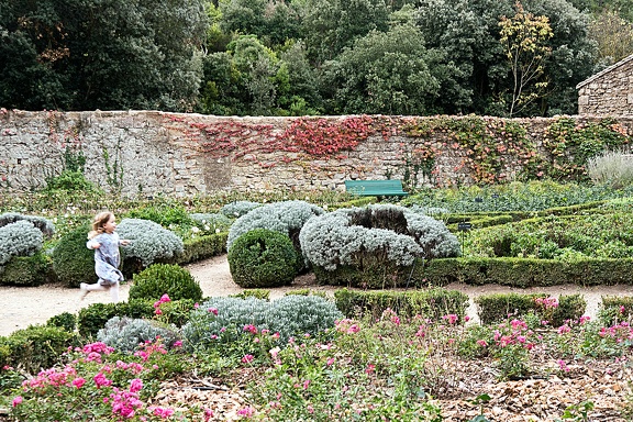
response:
<path fill-rule="evenodd" d="M 467 295 L 441 288 L 410 291 L 341 289 L 334 292 L 334 299 L 338 310 L 347 318 L 371 315 L 377 319 L 387 309 L 391 309 L 402 318 L 420 314 L 437 320 L 447 314 L 456 314 L 463 320 L 468 307 Z"/>

